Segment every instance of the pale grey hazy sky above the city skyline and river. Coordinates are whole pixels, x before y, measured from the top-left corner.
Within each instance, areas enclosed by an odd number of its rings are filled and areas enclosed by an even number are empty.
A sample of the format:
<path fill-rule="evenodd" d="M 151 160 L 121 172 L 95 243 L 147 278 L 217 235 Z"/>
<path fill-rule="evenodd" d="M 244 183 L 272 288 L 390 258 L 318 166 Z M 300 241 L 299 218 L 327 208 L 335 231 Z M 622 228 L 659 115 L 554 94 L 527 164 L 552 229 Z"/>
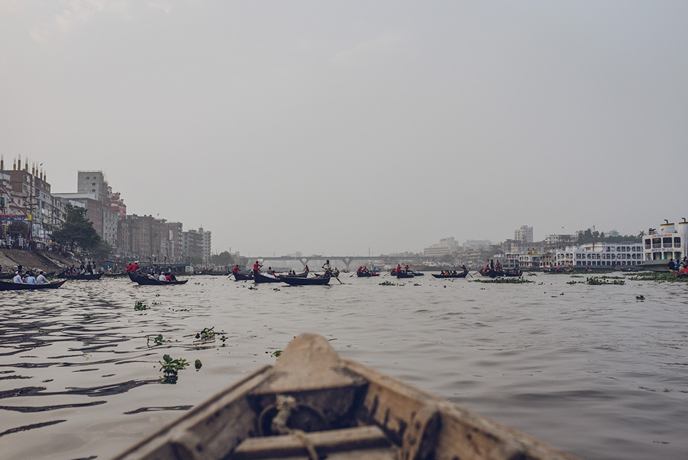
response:
<path fill-rule="evenodd" d="M 688 218 L 688 1 L 0 0 L 0 153 L 213 251 Z"/>

